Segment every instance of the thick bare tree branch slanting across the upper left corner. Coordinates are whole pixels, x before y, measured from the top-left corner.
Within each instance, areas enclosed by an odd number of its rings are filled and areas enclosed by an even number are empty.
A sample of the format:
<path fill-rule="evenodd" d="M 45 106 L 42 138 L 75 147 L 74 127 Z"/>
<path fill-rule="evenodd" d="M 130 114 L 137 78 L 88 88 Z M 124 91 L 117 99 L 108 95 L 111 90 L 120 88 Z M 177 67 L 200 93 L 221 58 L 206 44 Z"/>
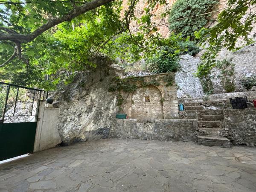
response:
<path fill-rule="evenodd" d="M 93 0 L 88 3 L 85 3 L 82 6 L 74 8 L 69 14 L 64 15 L 62 17 L 58 17 L 52 20 L 48 20 L 47 23 L 40 26 L 38 29 L 35 29 L 30 34 L 24 35 L 24 34 L 17 34 L 17 33 L 3 33 L 0 32 L 0 41 L 1 40 L 9 40 L 13 42 L 19 42 L 19 43 L 26 43 L 30 42 L 33 39 L 35 39 L 38 35 L 41 35 L 43 32 L 47 31 L 48 29 L 52 28 L 53 26 L 58 25 L 59 23 L 62 23 L 64 21 L 70 21 L 73 18 L 88 12 L 92 9 L 95 9 L 99 6 L 105 5 L 106 3 L 110 3 L 114 0 Z"/>

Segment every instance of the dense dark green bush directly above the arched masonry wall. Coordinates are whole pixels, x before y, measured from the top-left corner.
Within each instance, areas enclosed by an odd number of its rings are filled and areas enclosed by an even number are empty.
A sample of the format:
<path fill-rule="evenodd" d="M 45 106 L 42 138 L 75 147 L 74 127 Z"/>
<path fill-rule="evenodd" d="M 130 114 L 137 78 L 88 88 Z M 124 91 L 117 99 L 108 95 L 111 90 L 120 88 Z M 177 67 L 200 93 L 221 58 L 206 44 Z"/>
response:
<path fill-rule="evenodd" d="M 176 72 L 180 68 L 180 51 L 164 47 L 156 55 L 146 60 L 148 70 L 153 73 Z"/>

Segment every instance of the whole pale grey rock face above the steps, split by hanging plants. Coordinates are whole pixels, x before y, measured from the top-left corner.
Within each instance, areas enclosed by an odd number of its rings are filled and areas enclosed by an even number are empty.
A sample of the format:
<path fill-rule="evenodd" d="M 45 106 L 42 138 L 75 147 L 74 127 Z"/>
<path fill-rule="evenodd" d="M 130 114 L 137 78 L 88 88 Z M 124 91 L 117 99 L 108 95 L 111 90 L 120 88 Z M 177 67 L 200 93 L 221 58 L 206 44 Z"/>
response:
<path fill-rule="evenodd" d="M 255 38 L 256 40 L 256 38 Z M 191 55 L 180 56 L 180 68 L 181 70 L 176 73 L 175 81 L 178 85 L 177 97 L 178 98 L 202 98 L 203 88 L 201 82 L 196 78 L 193 73 L 196 72 L 198 64 L 201 62 L 200 56 L 204 52 L 201 51 L 196 57 Z M 235 92 L 247 91 L 242 84 L 244 77 L 256 76 L 256 44 L 244 47 L 236 52 L 230 52 L 222 50 L 217 58 L 218 60 L 227 59 L 235 64 Z M 213 94 L 226 93 L 221 85 L 219 75 L 220 70 L 214 68 L 212 70 L 212 83 Z M 256 87 L 252 87 L 250 91 L 255 91 Z"/>

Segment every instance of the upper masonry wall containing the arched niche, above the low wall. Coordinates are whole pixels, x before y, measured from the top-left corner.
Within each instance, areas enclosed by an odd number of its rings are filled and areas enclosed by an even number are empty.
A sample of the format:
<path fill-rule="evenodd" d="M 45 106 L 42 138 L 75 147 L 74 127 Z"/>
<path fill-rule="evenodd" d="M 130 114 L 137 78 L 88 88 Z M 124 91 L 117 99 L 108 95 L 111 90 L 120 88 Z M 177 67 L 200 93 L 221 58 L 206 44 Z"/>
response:
<path fill-rule="evenodd" d="M 167 80 L 172 78 L 174 73 L 163 73 L 151 76 L 143 76 L 144 83 L 156 82 L 158 85 L 142 85 L 135 82 L 138 88 L 132 93 L 122 93 L 124 102 L 122 112 L 128 118 L 139 119 L 143 122 L 152 122 L 154 119 L 178 118 L 177 87 L 175 82 L 172 86 L 167 86 Z M 150 102 L 146 102 L 148 96 Z"/>

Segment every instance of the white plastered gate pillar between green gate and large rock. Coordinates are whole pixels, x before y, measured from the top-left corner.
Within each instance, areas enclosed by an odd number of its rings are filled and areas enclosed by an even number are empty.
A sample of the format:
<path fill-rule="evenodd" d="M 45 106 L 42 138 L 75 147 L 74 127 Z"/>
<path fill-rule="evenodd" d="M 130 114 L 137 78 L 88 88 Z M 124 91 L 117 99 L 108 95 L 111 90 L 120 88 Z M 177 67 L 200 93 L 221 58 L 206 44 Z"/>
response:
<path fill-rule="evenodd" d="M 45 101 L 40 102 L 34 152 L 43 151 L 61 143 L 57 129 L 58 115 L 59 108 L 45 107 Z"/>

